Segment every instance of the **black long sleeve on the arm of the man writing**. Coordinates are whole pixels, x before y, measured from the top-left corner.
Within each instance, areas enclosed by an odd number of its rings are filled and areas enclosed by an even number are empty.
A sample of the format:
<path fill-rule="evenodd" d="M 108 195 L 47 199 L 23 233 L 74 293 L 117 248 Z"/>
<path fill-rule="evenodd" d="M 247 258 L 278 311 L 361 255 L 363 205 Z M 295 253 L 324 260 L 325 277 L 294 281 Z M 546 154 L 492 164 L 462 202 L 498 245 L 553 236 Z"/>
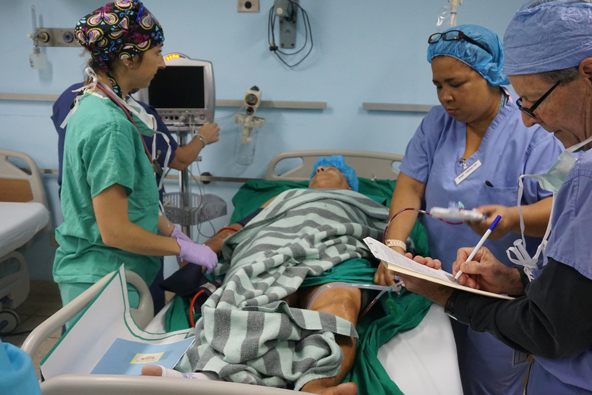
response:
<path fill-rule="evenodd" d="M 454 315 L 475 332 L 489 332 L 513 349 L 557 359 L 592 345 L 592 280 L 549 258 L 526 296 L 500 300 L 463 292 Z"/>

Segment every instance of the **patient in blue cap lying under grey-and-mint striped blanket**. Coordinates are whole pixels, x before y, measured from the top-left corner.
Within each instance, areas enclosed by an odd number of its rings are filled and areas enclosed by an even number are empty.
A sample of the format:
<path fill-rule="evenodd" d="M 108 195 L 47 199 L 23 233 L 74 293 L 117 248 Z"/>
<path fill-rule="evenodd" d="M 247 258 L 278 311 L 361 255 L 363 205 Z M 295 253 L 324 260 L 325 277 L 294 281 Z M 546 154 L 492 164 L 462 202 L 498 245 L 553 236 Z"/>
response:
<path fill-rule="evenodd" d="M 283 192 L 206 243 L 230 264 L 218 266 L 224 283 L 202 307 L 185 357 L 192 371 L 310 393 L 356 393 L 356 384 L 339 383 L 355 358 L 361 291 L 329 288 L 304 310 L 327 284 L 300 287 L 307 275 L 369 256 L 361 240 L 384 230 L 387 208 L 350 191 L 348 178 L 335 166 L 318 166 L 309 190 Z M 143 374 L 162 371 L 146 366 Z"/>

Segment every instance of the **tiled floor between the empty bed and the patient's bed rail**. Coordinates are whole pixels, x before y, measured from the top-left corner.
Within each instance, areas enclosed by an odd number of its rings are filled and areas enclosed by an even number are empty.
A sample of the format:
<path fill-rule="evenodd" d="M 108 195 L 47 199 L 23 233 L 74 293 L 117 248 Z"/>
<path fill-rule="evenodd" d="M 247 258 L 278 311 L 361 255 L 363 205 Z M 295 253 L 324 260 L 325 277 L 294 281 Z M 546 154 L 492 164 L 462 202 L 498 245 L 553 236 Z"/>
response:
<path fill-rule="evenodd" d="M 14 333 L 13 335 L 2 336 L 2 341 L 20 347 L 31 330 L 61 308 L 62 299 L 57 284 L 51 281 L 31 280 L 31 290 L 27 300 L 15 309 L 21 323 L 11 332 Z M 40 377 L 39 362 L 52 349 L 61 335 L 62 331 L 57 330 L 43 342 L 34 355 L 33 365 L 37 371 L 37 377 Z"/>

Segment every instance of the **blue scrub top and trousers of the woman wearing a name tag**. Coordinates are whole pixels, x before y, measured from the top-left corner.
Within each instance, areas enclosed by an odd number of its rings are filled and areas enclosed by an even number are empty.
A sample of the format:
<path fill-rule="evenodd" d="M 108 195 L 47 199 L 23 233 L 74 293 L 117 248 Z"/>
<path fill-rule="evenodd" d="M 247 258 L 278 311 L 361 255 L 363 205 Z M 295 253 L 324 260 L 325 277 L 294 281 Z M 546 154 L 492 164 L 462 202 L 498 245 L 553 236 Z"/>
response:
<path fill-rule="evenodd" d="M 513 207 L 518 200 L 518 177 L 548 171 L 564 147 L 539 126 L 527 128 L 513 100 L 496 115 L 485 132 L 481 146 L 468 166 L 481 160 L 481 167 L 456 185 L 454 179 L 465 169 L 458 162 L 465 152 L 466 124 L 454 120 L 442 106 L 432 108 L 407 146 L 400 171 L 426 183 L 423 208 L 448 207 L 461 201 L 466 208 L 485 204 Z M 467 168 L 468 168 L 467 166 Z M 486 184 L 489 181 L 493 187 Z M 522 204 L 532 204 L 551 196 L 534 179 L 524 180 Z M 452 272 L 456 251 L 477 245 L 481 239 L 466 224 L 450 225 L 420 214 L 426 226 L 427 241 L 433 258 Z M 487 240 L 485 246 L 504 264 L 513 266 L 506 249 L 520 235 L 510 232 L 500 240 Z M 532 254 L 540 238 L 526 237 Z M 490 333 L 475 333 L 468 326 L 453 322 L 459 369 L 467 394 L 522 395 L 526 365 L 512 367 L 514 351 Z"/>

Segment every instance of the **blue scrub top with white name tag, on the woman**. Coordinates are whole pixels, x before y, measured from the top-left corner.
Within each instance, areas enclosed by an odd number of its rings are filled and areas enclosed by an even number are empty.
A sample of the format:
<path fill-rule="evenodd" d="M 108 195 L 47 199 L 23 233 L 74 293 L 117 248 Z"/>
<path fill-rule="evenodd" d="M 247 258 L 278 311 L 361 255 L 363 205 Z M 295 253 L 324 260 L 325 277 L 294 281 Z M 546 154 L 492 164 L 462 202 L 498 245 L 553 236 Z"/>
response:
<path fill-rule="evenodd" d="M 564 149 L 559 140 L 541 127 L 525 127 L 518 107 L 509 101 L 491 122 L 477 152 L 466 158 L 468 166 L 481 160 L 481 167 L 456 185 L 454 179 L 465 171 L 458 162 L 465 152 L 465 140 L 466 124 L 454 120 L 442 106 L 437 106 L 426 115 L 408 144 L 400 171 L 426 183 L 426 211 L 458 201 L 468 209 L 485 204 L 514 207 L 518 201 L 518 177 L 548 171 Z M 551 192 L 542 190 L 538 182 L 525 178 L 522 204 L 536 203 L 549 196 Z M 473 247 L 481 239 L 467 224 L 450 225 L 422 214 L 419 220 L 427 229 L 430 254 L 440 259 L 442 269 L 448 272 L 452 272 L 456 251 Z M 507 258 L 506 249 L 519 238 L 519 234 L 509 232 L 500 240 L 487 240 L 484 245 L 501 262 L 514 266 Z M 540 240 L 526 236 L 530 253 L 536 251 Z"/>

